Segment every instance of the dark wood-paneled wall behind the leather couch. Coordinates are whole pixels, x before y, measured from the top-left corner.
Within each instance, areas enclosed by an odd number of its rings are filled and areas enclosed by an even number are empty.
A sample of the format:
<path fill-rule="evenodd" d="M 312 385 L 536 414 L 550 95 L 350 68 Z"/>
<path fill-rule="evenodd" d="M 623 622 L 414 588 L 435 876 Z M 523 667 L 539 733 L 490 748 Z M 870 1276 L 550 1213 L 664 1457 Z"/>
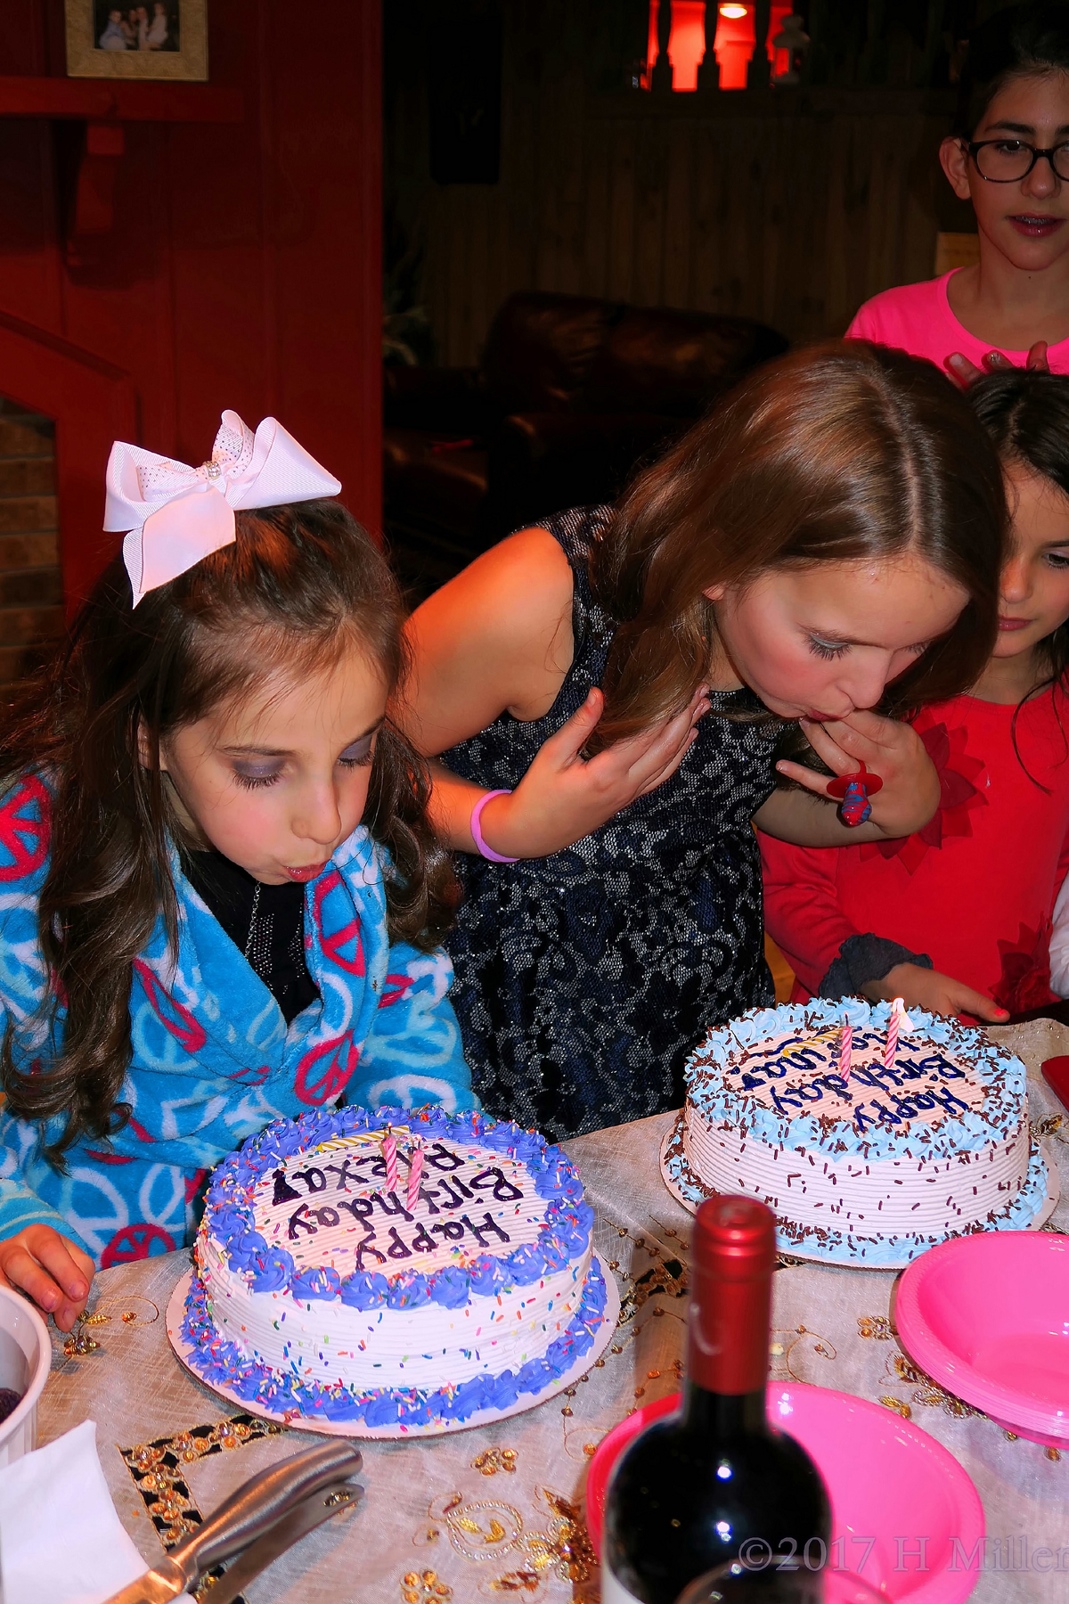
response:
<path fill-rule="evenodd" d="M 931 277 L 939 228 L 970 226 L 938 168 L 950 93 L 604 91 L 587 64 L 596 10 L 505 6 L 498 184 L 433 184 L 417 66 L 394 83 L 388 196 L 423 244 L 441 363 L 474 363 L 519 289 L 841 334 L 867 297 Z"/>

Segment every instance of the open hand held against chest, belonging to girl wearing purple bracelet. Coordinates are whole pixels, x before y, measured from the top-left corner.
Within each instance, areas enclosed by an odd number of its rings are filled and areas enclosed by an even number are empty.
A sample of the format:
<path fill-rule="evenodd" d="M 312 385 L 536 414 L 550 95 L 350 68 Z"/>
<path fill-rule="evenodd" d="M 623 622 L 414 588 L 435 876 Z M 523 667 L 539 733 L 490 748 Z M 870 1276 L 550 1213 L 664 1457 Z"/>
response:
<path fill-rule="evenodd" d="M 636 797 L 656 791 L 697 739 L 696 725 L 708 711 L 708 691 L 700 685 L 691 706 L 675 719 L 585 760 L 579 754 L 603 707 L 604 696 L 591 690 L 579 712 L 542 746 L 513 794 L 487 802 L 481 828 L 494 852 L 510 858 L 545 858 L 588 836 Z"/>

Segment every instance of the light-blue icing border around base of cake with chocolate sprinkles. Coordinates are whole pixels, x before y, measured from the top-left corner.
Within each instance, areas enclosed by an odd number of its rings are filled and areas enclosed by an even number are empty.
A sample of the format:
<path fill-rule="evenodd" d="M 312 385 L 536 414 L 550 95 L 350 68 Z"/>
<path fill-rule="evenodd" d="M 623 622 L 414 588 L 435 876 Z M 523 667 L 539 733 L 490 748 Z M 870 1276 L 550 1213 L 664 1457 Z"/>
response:
<path fill-rule="evenodd" d="M 678 1131 L 680 1126 L 676 1126 L 673 1137 Z M 694 1208 L 712 1195 L 697 1184 L 686 1161 L 686 1153 L 681 1150 L 681 1144 L 678 1144 L 676 1152 L 665 1153 L 665 1169 L 673 1185 Z M 949 1241 L 952 1237 L 974 1235 L 981 1230 L 1027 1230 L 1045 1200 L 1047 1163 L 1039 1145 L 1032 1142 L 1027 1174 L 1016 1198 L 1000 1214 L 978 1221 L 976 1225 L 965 1225 L 962 1230 L 947 1230 L 942 1235 L 909 1232 L 899 1237 L 864 1237 L 859 1232 L 835 1230 L 830 1225 L 821 1225 L 819 1232 L 805 1230 L 792 1222 L 789 1233 L 777 1216 L 776 1250 L 785 1254 L 813 1254 L 813 1258 L 827 1259 L 829 1264 L 867 1264 L 873 1269 L 901 1269 L 912 1259 L 920 1258 L 922 1253 L 926 1253 L 928 1248 L 934 1248 L 939 1241 Z"/>

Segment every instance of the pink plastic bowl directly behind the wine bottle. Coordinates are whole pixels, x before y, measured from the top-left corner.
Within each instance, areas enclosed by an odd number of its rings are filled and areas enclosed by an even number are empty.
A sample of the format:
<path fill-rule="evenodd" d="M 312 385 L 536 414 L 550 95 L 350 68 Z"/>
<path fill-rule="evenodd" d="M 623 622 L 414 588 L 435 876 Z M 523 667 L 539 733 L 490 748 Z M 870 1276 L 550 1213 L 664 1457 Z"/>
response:
<path fill-rule="evenodd" d="M 598 1445 L 587 1477 L 587 1525 L 598 1553 L 612 1466 L 676 1404 L 678 1394 L 636 1410 Z M 797 1381 L 769 1383 L 768 1418 L 798 1439 L 824 1476 L 835 1569 L 909 1604 L 962 1604 L 970 1596 L 982 1561 L 984 1508 L 934 1437 L 880 1404 Z"/>

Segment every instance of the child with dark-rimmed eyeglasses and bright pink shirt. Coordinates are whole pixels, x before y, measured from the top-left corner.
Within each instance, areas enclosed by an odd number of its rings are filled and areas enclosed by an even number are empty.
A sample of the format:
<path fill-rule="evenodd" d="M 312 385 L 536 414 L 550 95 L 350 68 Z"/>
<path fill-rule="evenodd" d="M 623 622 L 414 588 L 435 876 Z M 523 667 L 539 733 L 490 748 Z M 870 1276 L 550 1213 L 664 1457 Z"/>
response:
<path fill-rule="evenodd" d="M 939 160 L 971 200 L 979 261 L 875 295 L 848 338 L 981 371 L 1069 372 L 1069 5 L 1000 11 L 970 38 Z"/>

